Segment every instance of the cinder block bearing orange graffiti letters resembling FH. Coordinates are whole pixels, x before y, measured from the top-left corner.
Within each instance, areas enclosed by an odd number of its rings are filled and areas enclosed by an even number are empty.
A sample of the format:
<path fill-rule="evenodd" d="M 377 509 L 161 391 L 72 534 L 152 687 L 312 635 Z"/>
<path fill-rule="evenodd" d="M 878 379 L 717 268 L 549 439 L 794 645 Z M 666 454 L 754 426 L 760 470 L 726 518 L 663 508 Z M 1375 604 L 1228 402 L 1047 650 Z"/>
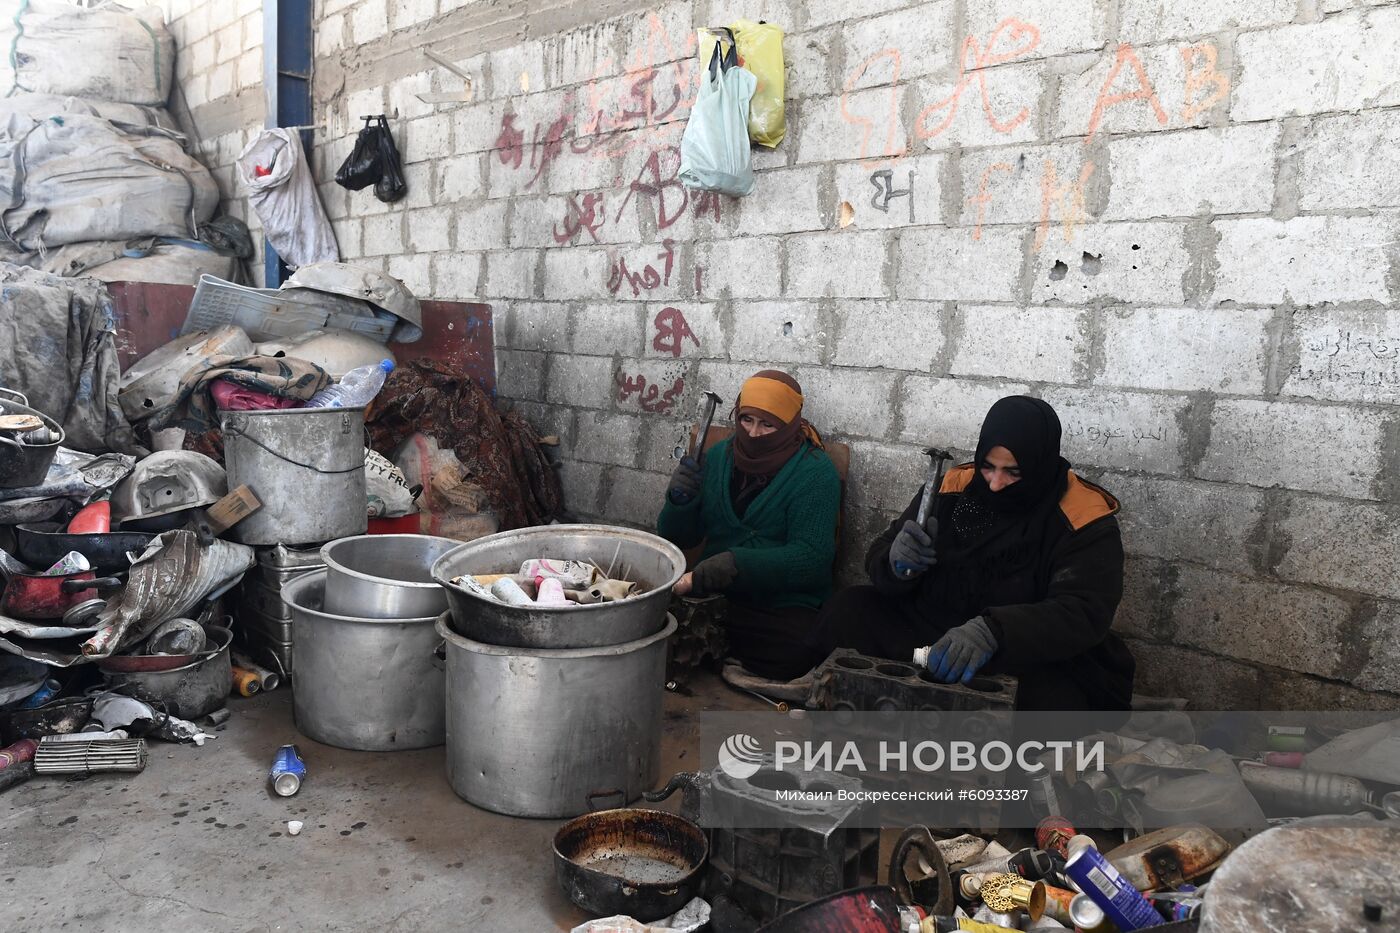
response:
<path fill-rule="evenodd" d="M 976 230 L 981 224 L 1037 224 L 1044 216 L 1047 224 L 1056 224 L 1051 233 L 1060 237 L 1060 224 L 1088 221 L 1092 203 L 1085 200 L 1099 182 L 1092 167 L 1079 143 L 963 153 L 960 223 Z"/>

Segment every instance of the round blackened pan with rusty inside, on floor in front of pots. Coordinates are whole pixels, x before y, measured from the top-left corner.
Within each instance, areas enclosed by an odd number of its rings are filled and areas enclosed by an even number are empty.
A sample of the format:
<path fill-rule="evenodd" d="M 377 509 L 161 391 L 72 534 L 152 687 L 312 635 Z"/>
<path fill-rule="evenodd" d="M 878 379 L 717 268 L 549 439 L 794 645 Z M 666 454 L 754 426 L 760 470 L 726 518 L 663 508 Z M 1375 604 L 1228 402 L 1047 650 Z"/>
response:
<path fill-rule="evenodd" d="M 643 923 L 683 908 L 710 856 L 704 831 L 664 810 L 601 810 L 554 834 L 554 877 L 568 899 L 599 916 Z"/>

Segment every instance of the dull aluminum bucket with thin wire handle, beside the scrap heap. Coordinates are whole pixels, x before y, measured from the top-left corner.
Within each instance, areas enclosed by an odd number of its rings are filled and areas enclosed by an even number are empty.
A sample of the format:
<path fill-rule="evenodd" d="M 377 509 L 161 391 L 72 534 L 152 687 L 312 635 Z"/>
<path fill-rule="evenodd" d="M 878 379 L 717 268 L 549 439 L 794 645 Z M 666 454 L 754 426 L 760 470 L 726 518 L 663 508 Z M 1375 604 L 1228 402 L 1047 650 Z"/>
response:
<path fill-rule="evenodd" d="M 370 527 L 363 408 L 220 412 L 220 429 L 228 488 L 246 483 L 262 502 L 235 541 L 322 544 Z"/>

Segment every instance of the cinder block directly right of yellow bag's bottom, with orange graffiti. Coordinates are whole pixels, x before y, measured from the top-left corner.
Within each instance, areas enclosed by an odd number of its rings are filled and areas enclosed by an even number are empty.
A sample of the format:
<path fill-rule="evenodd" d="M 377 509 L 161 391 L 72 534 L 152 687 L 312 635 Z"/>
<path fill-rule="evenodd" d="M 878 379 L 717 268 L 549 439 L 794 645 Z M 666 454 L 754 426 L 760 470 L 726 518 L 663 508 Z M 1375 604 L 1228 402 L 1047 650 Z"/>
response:
<path fill-rule="evenodd" d="M 902 98 L 902 88 L 889 87 L 851 91 L 841 97 L 804 98 L 792 108 L 798 127 L 795 161 L 836 163 L 904 156 L 910 151 L 910 136 L 900 120 Z M 791 140 L 783 144 L 788 146 Z"/>

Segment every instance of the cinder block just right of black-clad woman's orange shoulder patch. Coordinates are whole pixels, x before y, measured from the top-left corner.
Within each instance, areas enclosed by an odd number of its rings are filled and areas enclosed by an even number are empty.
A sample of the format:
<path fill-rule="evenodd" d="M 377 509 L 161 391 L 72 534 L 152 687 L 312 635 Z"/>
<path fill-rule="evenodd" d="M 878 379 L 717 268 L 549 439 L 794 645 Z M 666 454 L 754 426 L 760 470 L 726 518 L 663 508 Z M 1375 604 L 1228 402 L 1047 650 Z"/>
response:
<path fill-rule="evenodd" d="M 1254 572 L 1250 549 L 1264 517 L 1260 490 L 1126 474 L 1093 481 L 1123 503 L 1119 523 L 1128 553 Z"/>

